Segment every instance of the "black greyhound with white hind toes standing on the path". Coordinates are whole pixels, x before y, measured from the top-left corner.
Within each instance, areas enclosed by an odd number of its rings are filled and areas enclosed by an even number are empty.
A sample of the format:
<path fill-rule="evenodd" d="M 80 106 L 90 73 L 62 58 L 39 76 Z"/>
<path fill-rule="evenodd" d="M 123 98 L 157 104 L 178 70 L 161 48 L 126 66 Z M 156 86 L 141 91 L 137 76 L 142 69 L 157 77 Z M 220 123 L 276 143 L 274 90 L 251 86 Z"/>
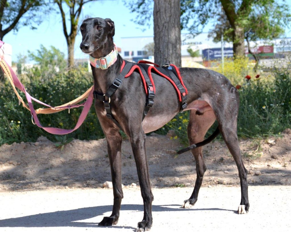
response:
<path fill-rule="evenodd" d="M 80 48 L 91 58 L 105 57 L 113 51 L 115 27 L 112 20 L 89 18 L 84 20 L 80 30 L 82 34 Z M 105 94 L 120 74 L 122 65 L 123 59 L 119 54 L 116 62 L 107 69 L 91 65 L 95 91 L 102 93 L 102 95 Z M 239 172 L 241 202 L 237 212 L 239 214 L 247 213 L 249 210 L 247 170 L 242 161 L 237 139 L 238 91 L 225 76 L 215 71 L 198 68 L 180 68 L 179 70 L 184 85 L 188 89 L 185 110 L 190 110 L 187 128 L 189 143 L 201 142 L 207 130 L 217 120 L 219 131 L 237 164 Z M 109 99 L 112 114 L 128 136 L 136 162 L 144 203 L 143 219 L 138 223 L 136 231 L 147 231 L 152 226 L 153 194 L 145 155 L 145 133 L 161 128 L 180 111 L 180 102 L 171 83 L 155 73 L 152 73 L 152 79 L 155 83 L 155 102 L 144 118 L 146 93 L 138 72 L 132 72 L 128 78 L 125 78 Z M 104 217 L 99 226 L 111 226 L 118 223 L 121 199 L 123 198 L 121 187 L 122 137 L 119 132 L 120 128 L 107 118 L 104 103 L 96 100 L 95 109 L 107 139 L 114 196 L 112 214 L 109 217 Z M 194 206 L 196 203 L 206 171 L 202 148 L 191 149 L 191 152 L 196 161 L 197 178 L 193 193 L 182 205 L 184 208 Z"/>

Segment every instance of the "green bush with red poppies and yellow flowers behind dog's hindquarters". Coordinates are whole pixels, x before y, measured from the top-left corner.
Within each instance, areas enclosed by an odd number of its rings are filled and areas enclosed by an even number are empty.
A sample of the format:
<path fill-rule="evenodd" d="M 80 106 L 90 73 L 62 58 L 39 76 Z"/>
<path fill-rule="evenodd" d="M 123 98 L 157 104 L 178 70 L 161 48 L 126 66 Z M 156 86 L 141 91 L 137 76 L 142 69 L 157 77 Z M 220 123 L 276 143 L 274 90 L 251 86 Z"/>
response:
<path fill-rule="evenodd" d="M 291 128 L 291 75 L 290 62 L 288 67 L 276 64 L 269 73 L 262 73 L 256 78 L 253 71 L 249 70 L 245 60 L 238 60 L 227 67 L 232 67 L 225 74 L 231 77 L 234 86 L 239 88 L 239 115 L 237 132 L 239 137 L 262 137 L 275 135 L 286 128 Z M 219 71 L 219 68 L 217 68 Z M 251 75 L 247 81 L 246 74 Z M 240 85 L 237 85 L 240 84 Z M 182 144 L 187 145 L 187 124 L 189 112 L 182 112 L 175 116 L 158 133 L 165 134 L 173 129 Z M 208 137 L 217 127 L 217 122 L 207 132 Z"/>

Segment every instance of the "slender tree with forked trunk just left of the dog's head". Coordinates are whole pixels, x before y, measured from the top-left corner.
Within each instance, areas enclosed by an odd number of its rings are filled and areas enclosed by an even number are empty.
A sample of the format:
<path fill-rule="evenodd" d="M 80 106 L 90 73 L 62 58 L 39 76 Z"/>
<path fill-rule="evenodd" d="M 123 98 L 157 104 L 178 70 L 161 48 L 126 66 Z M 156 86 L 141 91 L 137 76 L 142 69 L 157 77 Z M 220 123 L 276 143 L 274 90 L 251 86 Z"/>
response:
<path fill-rule="evenodd" d="M 78 22 L 81 15 L 82 7 L 84 4 L 96 1 L 96 0 L 54 0 L 57 4 L 63 24 L 63 32 L 68 45 L 68 66 L 74 66 L 74 45 L 78 31 Z M 68 14 L 66 15 L 66 8 L 69 8 Z M 67 26 L 66 20 L 69 23 Z"/>

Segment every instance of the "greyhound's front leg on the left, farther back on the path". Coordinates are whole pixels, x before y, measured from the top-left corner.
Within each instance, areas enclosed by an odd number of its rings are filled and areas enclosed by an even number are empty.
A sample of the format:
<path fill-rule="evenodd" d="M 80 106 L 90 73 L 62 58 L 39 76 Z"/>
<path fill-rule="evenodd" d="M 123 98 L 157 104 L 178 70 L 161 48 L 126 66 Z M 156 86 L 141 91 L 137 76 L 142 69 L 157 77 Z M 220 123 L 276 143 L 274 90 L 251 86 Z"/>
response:
<path fill-rule="evenodd" d="M 99 226 L 112 226 L 118 223 L 123 192 L 121 187 L 121 142 L 119 130 L 112 127 L 104 130 L 107 139 L 108 157 L 113 184 L 113 210 L 110 217 L 104 217 Z"/>

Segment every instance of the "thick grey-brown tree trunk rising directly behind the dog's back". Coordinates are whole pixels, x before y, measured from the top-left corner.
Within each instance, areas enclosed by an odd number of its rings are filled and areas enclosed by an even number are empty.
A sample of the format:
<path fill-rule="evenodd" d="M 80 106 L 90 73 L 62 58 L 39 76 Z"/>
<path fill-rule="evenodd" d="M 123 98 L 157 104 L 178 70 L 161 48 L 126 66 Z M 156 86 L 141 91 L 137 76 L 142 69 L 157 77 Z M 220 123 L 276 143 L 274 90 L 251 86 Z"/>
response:
<path fill-rule="evenodd" d="M 181 67 L 180 0 L 154 0 L 155 63 Z"/>

